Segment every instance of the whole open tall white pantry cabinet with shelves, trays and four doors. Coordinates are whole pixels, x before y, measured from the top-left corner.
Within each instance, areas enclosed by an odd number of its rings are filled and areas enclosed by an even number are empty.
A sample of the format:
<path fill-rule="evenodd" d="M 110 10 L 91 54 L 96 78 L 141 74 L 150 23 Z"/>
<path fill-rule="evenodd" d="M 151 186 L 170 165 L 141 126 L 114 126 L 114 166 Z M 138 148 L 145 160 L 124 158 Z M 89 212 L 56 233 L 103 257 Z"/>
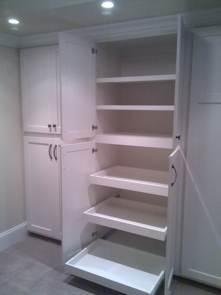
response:
<path fill-rule="evenodd" d="M 179 15 L 178 32 L 115 39 L 59 35 L 62 139 L 90 137 L 60 148 L 63 262 L 128 295 L 165 278 L 169 294 L 185 29 Z"/>

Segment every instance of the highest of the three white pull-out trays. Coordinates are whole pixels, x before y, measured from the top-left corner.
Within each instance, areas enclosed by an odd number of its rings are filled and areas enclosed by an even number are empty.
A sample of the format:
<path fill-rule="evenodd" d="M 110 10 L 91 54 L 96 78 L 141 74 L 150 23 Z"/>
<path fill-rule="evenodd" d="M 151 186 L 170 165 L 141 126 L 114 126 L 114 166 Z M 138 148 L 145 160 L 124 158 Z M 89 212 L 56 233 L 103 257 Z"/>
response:
<path fill-rule="evenodd" d="M 90 183 L 168 197 L 168 172 L 114 166 L 94 173 Z"/>

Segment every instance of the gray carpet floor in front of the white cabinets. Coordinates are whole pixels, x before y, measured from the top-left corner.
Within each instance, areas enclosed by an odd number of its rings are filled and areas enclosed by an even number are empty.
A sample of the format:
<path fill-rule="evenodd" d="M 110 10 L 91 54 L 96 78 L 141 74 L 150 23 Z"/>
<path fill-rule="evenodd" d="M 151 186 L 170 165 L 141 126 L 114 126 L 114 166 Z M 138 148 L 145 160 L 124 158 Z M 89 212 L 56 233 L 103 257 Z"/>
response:
<path fill-rule="evenodd" d="M 164 286 L 157 295 L 164 294 Z M 60 242 L 31 234 L 0 252 L 1 295 L 124 295 L 74 277 L 61 266 Z M 174 277 L 171 295 L 214 295 L 220 289 Z M 136 295 L 136 294 L 134 294 Z"/>

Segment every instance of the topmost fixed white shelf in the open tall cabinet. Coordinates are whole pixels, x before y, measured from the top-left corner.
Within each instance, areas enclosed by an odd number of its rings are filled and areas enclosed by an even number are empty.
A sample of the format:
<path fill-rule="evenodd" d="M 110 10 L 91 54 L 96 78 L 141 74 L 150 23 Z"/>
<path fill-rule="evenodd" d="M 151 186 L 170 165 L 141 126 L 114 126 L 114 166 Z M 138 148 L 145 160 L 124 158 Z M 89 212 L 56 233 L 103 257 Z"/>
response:
<path fill-rule="evenodd" d="M 176 75 L 154 75 L 135 77 L 111 77 L 97 78 L 97 83 L 128 83 L 128 82 L 154 82 L 154 81 L 175 81 Z"/>

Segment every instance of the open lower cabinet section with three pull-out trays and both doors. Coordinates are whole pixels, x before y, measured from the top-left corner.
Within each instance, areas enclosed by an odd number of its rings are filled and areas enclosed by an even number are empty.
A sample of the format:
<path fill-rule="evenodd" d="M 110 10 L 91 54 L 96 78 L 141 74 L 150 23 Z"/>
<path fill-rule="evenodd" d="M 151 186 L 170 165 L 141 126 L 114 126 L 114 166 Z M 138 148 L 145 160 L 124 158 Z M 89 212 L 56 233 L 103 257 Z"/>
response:
<path fill-rule="evenodd" d="M 172 152 L 161 173 L 114 167 L 116 160 L 121 164 L 115 148 L 119 153 L 117 146 L 95 142 L 61 147 L 66 271 L 128 295 L 153 295 L 165 280 L 169 294 L 180 151 Z M 99 165 L 113 168 L 95 173 Z"/>

